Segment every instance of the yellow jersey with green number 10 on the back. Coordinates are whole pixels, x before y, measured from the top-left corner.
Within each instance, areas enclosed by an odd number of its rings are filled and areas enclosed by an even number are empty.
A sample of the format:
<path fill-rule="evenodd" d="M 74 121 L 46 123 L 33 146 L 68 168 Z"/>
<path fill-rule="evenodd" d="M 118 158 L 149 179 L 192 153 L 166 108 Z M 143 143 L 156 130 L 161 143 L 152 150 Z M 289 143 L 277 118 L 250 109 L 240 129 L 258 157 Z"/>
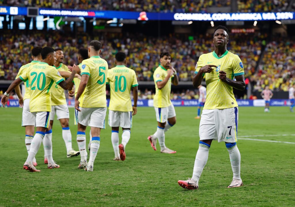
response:
<path fill-rule="evenodd" d="M 111 88 L 109 110 L 133 111 L 130 91 L 132 87 L 138 86 L 135 71 L 125 65 L 117 65 L 108 71 L 106 84 Z"/>

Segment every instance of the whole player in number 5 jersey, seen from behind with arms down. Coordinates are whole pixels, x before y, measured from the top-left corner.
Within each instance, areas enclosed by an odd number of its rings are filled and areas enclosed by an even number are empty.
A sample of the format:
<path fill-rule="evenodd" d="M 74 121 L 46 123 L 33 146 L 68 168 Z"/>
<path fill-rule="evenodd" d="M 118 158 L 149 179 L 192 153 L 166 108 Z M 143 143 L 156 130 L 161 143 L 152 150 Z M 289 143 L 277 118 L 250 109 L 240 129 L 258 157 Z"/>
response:
<path fill-rule="evenodd" d="M 93 171 L 93 164 L 100 145 L 100 130 L 105 128 L 106 117 L 106 79 L 107 62 L 99 57 L 101 43 L 92 40 L 88 47 L 89 58 L 83 60 L 81 82 L 75 97 L 75 108 L 78 110 L 77 143 L 81 162 L 78 168 Z M 80 108 L 79 108 L 80 107 Z M 86 126 L 91 127 L 91 147 L 89 162 L 86 161 Z"/>

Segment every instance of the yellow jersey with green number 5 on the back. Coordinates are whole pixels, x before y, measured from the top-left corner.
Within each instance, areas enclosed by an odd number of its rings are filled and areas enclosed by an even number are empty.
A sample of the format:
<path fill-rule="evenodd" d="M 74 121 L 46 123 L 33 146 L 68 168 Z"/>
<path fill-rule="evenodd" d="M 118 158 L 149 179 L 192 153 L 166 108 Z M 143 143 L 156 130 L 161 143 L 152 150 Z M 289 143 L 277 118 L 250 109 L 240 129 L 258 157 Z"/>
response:
<path fill-rule="evenodd" d="M 89 75 L 84 93 L 79 98 L 83 108 L 106 107 L 106 79 L 108 63 L 99 56 L 83 60 L 81 76 Z"/>

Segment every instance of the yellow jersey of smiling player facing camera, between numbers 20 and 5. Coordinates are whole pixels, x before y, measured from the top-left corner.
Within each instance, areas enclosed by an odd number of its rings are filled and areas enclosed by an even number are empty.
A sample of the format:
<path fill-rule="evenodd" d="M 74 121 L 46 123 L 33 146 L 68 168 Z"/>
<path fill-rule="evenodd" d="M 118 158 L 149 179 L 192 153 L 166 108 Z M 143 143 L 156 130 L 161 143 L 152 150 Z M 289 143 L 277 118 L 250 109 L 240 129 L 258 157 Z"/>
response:
<path fill-rule="evenodd" d="M 61 70 L 61 71 L 69 72 L 68 67 L 62 63 L 60 63 L 59 67 L 55 67 L 55 68 L 56 68 L 56 71 Z M 65 78 L 63 80 L 65 80 Z M 60 87 L 58 84 L 53 85 L 51 88 L 51 104 L 53 106 L 67 104 L 65 100 L 65 90 L 62 87 Z"/>

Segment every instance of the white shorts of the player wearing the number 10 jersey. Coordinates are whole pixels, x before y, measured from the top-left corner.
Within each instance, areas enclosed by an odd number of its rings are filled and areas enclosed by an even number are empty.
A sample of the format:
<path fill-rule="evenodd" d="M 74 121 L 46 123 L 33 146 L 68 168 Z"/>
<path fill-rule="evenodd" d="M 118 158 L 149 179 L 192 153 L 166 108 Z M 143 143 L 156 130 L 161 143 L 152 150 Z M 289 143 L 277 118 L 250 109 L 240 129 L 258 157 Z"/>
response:
<path fill-rule="evenodd" d="M 109 110 L 109 126 L 129 129 L 132 127 L 132 111 L 112 111 Z"/>

